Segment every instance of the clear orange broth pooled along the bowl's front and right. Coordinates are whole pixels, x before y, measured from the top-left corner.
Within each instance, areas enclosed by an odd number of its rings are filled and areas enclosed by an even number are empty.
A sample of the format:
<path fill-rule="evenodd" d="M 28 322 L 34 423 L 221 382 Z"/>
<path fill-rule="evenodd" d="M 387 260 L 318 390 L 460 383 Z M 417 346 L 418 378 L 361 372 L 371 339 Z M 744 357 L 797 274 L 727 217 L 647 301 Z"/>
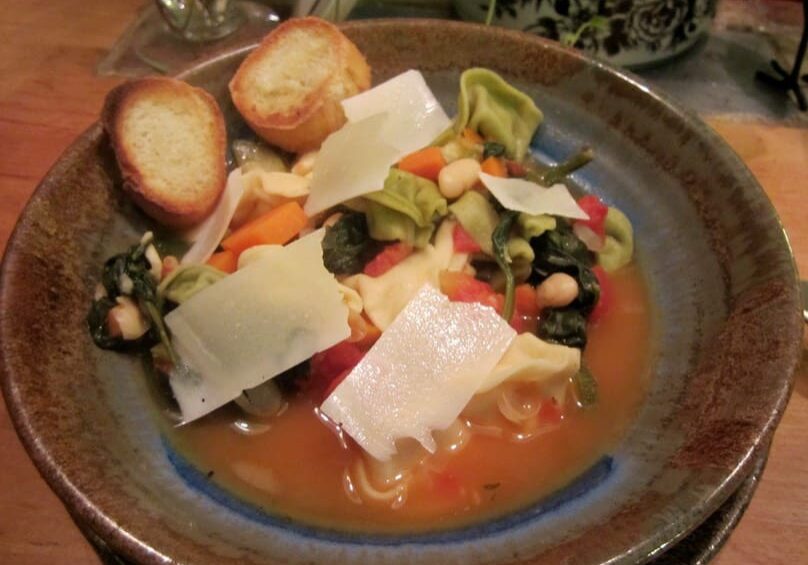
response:
<path fill-rule="evenodd" d="M 248 436 L 226 408 L 169 433 L 173 444 L 221 487 L 271 513 L 341 530 L 402 532 L 459 526 L 523 507 L 563 487 L 608 453 L 647 389 L 652 316 L 636 266 L 612 276 L 612 307 L 590 325 L 584 359 L 598 402 L 568 404 L 559 426 L 526 442 L 473 433 L 457 453 L 439 453 L 417 474 L 406 501 L 352 502 L 343 474 L 359 448 L 340 446 L 305 397 L 290 401 L 269 429 Z M 572 395 L 569 395 L 572 396 Z"/>

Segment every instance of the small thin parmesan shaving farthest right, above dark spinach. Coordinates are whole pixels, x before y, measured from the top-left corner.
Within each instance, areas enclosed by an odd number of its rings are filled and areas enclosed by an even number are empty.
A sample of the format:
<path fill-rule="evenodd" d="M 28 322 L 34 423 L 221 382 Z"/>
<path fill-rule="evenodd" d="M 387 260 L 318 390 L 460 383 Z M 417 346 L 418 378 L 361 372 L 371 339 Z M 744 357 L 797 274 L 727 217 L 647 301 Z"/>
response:
<path fill-rule="evenodd" d="M 524 179 L 507 179 L 487 173 L 480 173 L 480 180 L 508 210 L 532 215 L 563 216 L 575 220 L 589 219 L 563 184 L 544 188 Z"/>

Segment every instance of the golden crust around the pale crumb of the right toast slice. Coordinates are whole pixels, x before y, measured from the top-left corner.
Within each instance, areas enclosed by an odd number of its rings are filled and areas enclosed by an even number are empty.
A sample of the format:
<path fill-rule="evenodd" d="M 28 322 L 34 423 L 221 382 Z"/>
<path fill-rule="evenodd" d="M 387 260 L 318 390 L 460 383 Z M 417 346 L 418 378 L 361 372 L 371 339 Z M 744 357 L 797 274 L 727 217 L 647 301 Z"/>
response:
<path fill-rule="evenodd" d="M 265 57 L 283 49 L 291 32 L 303 31 L 327 37 L 336 68 L 287 112 L 262 112 L 248 83 Z M 230 81 L 233 103 L 249 126 L 265 141 L 301 153 L 316 149 L 329 134 L 345 123 L 340 102 L 370 88 L 370 67 L 359 49 L 333 24 L 319 18 L 293 18 L 279 25 L 250 53 Z M 340 93 L 339 96 L 334 92 Z"/>

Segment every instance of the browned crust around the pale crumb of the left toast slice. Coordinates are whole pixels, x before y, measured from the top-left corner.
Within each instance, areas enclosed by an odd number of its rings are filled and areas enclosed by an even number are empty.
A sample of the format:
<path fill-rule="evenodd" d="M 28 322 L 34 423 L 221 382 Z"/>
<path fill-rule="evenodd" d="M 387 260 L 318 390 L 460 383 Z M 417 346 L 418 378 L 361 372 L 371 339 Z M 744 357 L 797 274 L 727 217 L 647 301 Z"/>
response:
<path fill-rule="evenodd" d="M 151 186 L 144 172 L 137 166 L 135 148 L 127 137 L 123 124 L 126 112 L 139 101 L 149 97 L 191 97 L 204 105 L 207 118 L 213 125 L 208 143 L 214 144 L 215 161 L 194 155 L 196 166 L 208 171 L 209 182 L 195 186 L 193 200 Z M 101 112 L 101 122 L 109 137 L 123 179 L 123 190 L 150 217 L 167 226 L 186 228 L 205 219 L 221 196 L 227 181 L 225 151 L 227 133 L 224 117 L 216 100 L 201 88 L 168 77 L 144 77 L 127 81 L 107 94 Z M 194 132 L 198 135 L 200 132 Z M 159 132 L 156 132 L 159 134 Z"/>

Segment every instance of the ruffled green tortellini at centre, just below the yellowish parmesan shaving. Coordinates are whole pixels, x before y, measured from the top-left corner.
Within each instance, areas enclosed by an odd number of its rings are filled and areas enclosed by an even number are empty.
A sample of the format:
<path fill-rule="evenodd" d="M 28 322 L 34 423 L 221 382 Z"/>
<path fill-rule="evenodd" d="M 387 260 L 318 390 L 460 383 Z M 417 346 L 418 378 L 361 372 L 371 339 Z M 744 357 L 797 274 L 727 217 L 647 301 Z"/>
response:
<path fill-rule="evenodd" d="M 448 214 L 446 199 L 430 180 L 390 169 L 384 188 L 365 195 L 368 233 L 380 241 L 429 243 L 435 220 Z"/>

